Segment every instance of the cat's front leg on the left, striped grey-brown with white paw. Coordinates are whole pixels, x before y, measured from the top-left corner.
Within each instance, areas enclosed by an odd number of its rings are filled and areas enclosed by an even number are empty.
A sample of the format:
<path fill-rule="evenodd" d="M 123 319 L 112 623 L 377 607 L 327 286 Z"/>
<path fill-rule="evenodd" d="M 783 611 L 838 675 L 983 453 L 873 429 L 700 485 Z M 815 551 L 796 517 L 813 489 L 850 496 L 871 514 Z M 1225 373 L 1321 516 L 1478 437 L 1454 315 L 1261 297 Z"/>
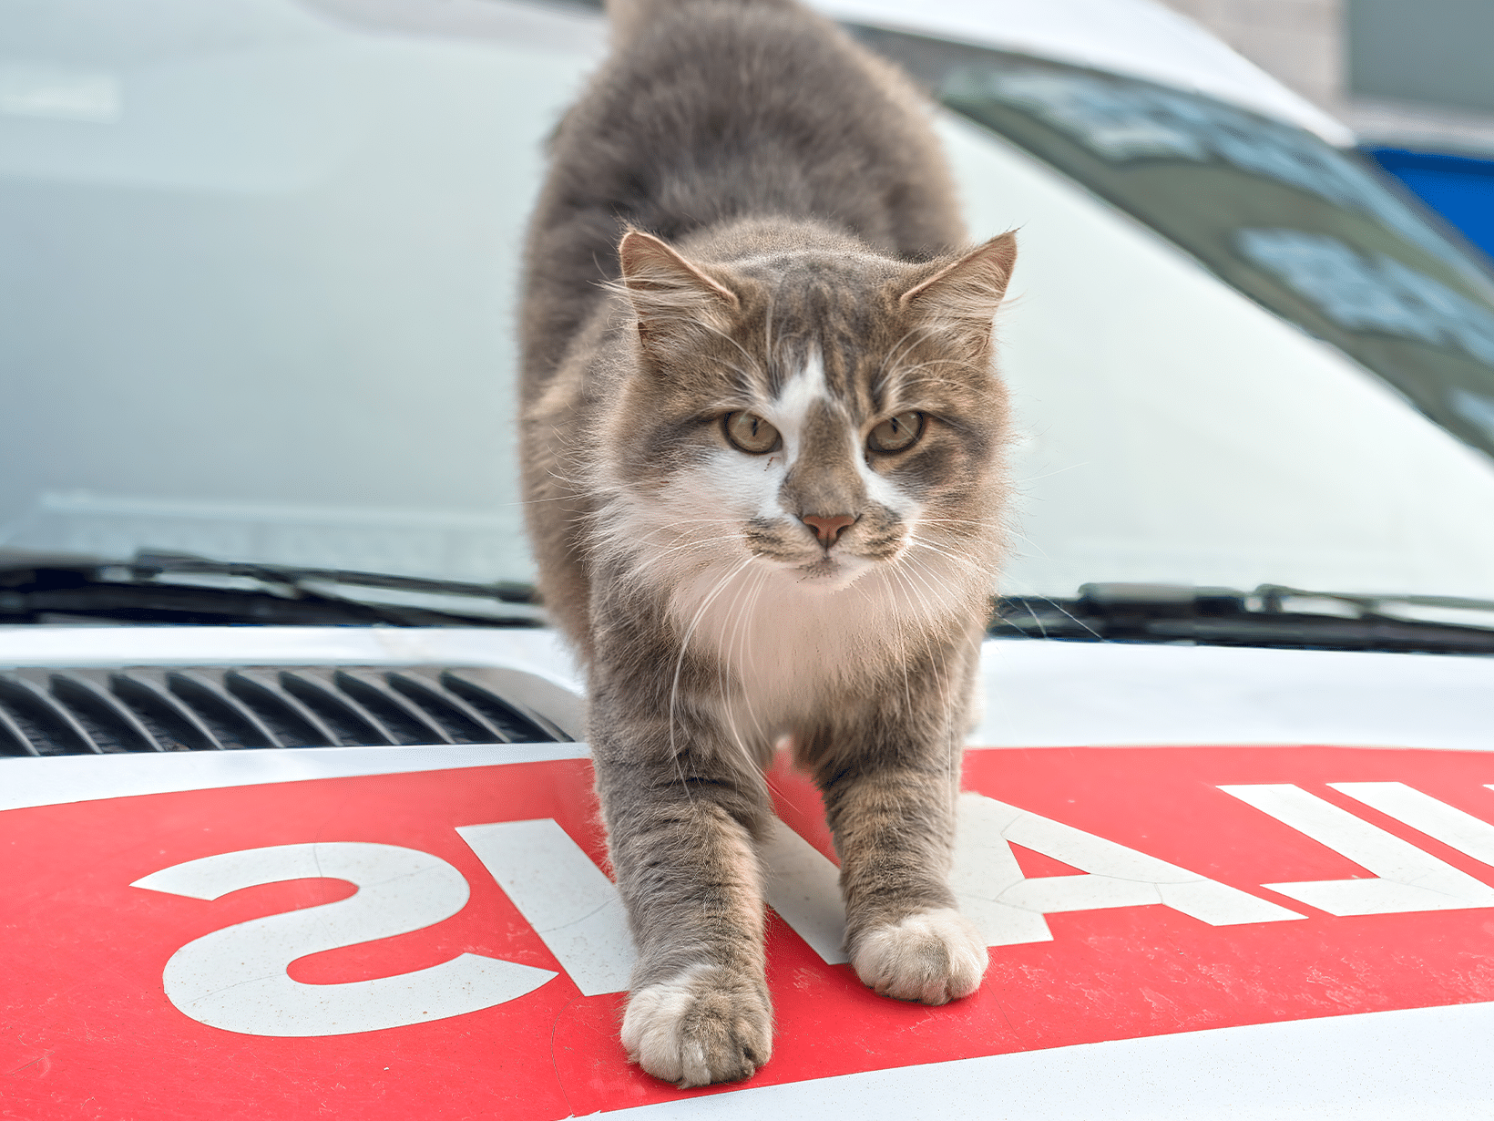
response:
<path fill-rule="evenodd" d="M 747 1078 L 772 1054 L 753 841 L 768 812 L 760 779 L 725 761 L 702 722 L 678 750 L 665 722 L 610 713 L 605 701 L 593 707 L 593 728 L 613 865 L 638 948 L 623 1046 L 680 1087 Z M 681 738 L 677 726 L 677 746 Z"/>

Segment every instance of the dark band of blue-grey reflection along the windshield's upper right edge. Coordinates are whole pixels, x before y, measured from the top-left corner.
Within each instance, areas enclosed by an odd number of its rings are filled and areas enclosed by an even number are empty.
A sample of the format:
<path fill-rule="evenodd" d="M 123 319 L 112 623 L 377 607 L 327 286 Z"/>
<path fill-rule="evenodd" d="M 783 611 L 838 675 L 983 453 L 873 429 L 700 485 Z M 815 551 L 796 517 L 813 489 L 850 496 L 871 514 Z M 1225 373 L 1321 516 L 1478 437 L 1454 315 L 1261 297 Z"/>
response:
<path fill-rule="evenodd" d="M 1198 94 L 858 28 L 961 115 L 1135 215 L 1494 457 L 1494 284 L 1319 138 Z"/>

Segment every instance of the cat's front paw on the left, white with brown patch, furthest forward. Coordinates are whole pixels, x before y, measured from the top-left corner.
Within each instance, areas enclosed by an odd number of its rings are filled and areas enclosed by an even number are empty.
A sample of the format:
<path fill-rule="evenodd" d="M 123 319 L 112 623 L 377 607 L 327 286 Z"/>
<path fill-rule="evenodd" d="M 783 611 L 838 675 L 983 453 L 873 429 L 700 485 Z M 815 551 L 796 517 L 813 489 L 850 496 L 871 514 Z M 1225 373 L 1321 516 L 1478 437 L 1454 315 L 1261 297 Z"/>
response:
<path fill-rule="evenodd" d="M 681 1090 L 747 1078 L 772 1054 L 772 1006 L 760 982 L 695 966 L 641 988 L 623 1016 L 627 1057 Z"/>

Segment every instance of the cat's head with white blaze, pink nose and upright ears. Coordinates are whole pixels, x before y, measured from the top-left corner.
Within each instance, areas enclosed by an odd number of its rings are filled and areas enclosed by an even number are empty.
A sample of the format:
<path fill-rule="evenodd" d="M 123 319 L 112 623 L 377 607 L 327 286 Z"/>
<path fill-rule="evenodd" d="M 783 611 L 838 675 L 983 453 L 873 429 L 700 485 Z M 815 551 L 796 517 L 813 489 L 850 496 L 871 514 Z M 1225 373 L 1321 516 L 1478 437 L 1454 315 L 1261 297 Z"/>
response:
<path fill-rule="evenodd" d="M 660 577 L 741 563 L 837 590 L 905 565 L 989 586 L 1013 235 L 917 265 L 802 227 L 690 256 L 630 232 L 619 256 L 636 360 L 602 441 L 611 532 Z"/>

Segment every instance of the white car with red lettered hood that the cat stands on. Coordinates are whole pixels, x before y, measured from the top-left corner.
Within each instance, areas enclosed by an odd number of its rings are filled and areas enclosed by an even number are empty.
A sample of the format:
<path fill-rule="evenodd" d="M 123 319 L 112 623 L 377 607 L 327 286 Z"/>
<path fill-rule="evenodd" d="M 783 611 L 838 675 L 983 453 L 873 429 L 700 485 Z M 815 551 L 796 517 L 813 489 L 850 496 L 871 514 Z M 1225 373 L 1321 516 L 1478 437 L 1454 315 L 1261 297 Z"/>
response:
<path fill-rule="evenodd" d="M 514 285 L 599 12 L 0 0 L 0 1117 L 1494 1115 L 1494 282 L 1149 0 L 834 0 L 1019 227 L 955 886 L 680 1091 L 532 602 Z"/>

